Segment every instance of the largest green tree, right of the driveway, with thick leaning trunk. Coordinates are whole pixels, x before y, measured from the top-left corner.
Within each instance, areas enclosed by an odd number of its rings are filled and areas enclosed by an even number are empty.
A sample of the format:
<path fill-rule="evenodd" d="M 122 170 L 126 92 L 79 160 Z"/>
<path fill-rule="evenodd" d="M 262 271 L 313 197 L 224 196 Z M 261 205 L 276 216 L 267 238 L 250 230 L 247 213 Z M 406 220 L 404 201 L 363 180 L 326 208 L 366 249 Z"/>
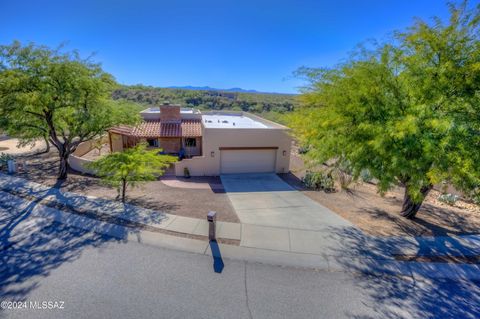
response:
<path fill-rule="evenodd" d="M 480 186 L 479 7 L 450 5 L 450 19 L 416 21 L 390 43 L 310 80 L 291 118 L 308 156 L 368 170 L 379 191 L 405 188 L 401 215 L 415 217 L 433 185 Z"/>

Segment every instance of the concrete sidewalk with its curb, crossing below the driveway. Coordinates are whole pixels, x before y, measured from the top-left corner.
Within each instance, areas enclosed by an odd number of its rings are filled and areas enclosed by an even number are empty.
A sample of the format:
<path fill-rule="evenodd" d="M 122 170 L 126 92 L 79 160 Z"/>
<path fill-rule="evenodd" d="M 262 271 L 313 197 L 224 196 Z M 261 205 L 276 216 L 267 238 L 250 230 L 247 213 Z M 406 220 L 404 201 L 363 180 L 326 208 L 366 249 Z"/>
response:
<path fill-rule="evenodd" d="M 30 194 L 33 197 L 62 200 L 72 207 L 108 213 L 112 216 L 141 222 L 159 229 L 185 234 L 207 234 L 206 221 L 174 216 L 118 202 L 60 193 L 37 183 L 0 174 L 0 205 L 12 210 L 31 210 L 30 218 L 55 220 L 70 226 L 133 240 L 144 244 L 211 255 L 206 240 L 182 238 L 148 230 L 112 225 L 101 220 L 72 214 L 68 211 L 42 205 L 9 191 Z M 480 267 L 475 264 L 402 262 L 394 254 L 417 255 L 477 255 L 480 236 L 436 238 L 376 238 L 346 227 L 307 231 L 248 224 L 219 223 L 217 236 L 240 240 L 240 246 L 220 244 L 222 257 L 276 265 L 314 268 L 328 271 L 362 272 L 372 274 L 405 275 L 427 278 L 480 279 Z M 222 232 L 223 228 L 223 232 Z M 252 239 L 256 238 L 256 239 Z"/>

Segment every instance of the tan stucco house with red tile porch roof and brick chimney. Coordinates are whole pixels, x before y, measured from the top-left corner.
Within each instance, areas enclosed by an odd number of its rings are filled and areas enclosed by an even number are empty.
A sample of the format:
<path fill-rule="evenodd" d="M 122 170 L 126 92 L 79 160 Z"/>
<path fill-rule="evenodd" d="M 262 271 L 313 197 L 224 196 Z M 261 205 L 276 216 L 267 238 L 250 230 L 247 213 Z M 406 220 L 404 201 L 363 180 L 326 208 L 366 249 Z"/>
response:
<path fill-rule="evenodd" d="M 165 103 L 140 112 L 136 127 L 111 128 L 111 151 L 139 142 L 180 155 L 175 174 L 287 173 L 291 137 L 288 128 L 246 112 L 200 112 Z"/>

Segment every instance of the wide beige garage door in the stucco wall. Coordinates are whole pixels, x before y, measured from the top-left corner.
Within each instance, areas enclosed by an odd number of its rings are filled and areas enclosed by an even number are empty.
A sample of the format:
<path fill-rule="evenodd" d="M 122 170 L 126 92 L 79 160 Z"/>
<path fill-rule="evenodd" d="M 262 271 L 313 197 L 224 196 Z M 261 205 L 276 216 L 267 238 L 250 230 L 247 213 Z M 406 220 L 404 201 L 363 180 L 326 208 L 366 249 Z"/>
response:
<path fill-rule="evenodd" d="M 234 173 L 273 173 L 277 150 L 222 150 L 220 152 L 220 171 L 222 174 Z"/>

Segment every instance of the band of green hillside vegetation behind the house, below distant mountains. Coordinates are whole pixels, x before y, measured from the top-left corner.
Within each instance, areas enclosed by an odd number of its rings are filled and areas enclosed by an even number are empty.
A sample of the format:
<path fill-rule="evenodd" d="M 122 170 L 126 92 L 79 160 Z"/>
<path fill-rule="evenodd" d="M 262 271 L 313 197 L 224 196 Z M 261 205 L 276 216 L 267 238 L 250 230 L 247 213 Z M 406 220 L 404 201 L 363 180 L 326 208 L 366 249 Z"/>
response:
<path fill-rule="evenodd" d="M 169 101 L 201 110 L 245 111 L 276 121 L 282 121 L 282 114 L 293 111 L 297 104 L 296 95 L 293 94 L 185 90 L 143 85 L 122 86 L 113 92 L 113 98 L 148 107 Z"/>

